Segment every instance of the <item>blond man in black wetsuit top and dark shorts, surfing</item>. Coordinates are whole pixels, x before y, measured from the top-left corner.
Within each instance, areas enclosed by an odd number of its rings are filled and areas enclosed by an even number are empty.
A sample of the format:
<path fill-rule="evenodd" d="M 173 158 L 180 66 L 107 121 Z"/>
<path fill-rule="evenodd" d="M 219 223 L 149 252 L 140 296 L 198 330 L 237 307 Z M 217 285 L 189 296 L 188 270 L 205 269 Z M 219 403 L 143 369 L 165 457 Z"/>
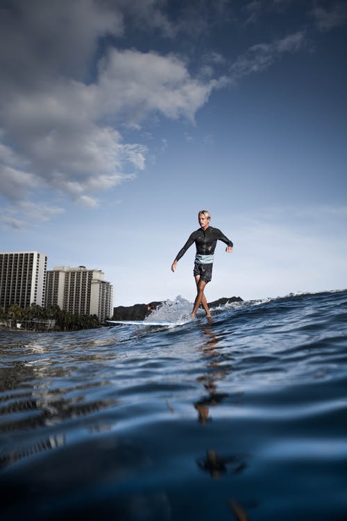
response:
<path fill-rule="evenodd" d="M 194 301 L 194 308 L 191 315 L 192 318 L 196 317 L 196 311 L 198 311 L 198 306 L 200 306 L 200 304 L 203 304 L 206 315 L 208 317 L 211 316 L 210 309 L 208 308 L 208 301 L 206 300 L 203 290 L 205 289 L 206 284 L 212 279 L 214 249 L 216 248 L 217 240 L 226 243 L 226 251 L 228 254 L 231 253 L 233 247 L 231 240 L 229 240 L 226 235 L 223 235 L 219 229 L 210 226 L 210 219 L 211 216 L 207 210 L 201 210 L 198 213 L 198 224 L 200 224 L 201 227 L 198 230 L 193 231 L 189 236 L 189 239 L 183 248 L 178 251 L 176 258 L 171 265 L 171 270 L 174 272 L 180 258 L 183 257 L 187 249 L 192 246 L 193 242 L 195 242 L 196 256 L 193 273 L 196 282 L 197 295 Z"/>

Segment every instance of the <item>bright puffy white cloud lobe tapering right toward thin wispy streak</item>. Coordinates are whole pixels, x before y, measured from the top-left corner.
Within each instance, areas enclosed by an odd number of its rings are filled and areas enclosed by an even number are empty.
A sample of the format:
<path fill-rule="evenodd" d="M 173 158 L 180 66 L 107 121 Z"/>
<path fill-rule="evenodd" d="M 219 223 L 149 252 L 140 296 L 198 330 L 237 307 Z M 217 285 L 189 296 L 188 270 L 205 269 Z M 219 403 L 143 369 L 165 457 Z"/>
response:
<path fill-rule="evenodd" d="M 96 97 L 103 113 L 121 115 L 128 124 L 152 112 L 194 120 L 217 83 L 196 80 L 174 55 L 112 49 L 99 65 Z"/>

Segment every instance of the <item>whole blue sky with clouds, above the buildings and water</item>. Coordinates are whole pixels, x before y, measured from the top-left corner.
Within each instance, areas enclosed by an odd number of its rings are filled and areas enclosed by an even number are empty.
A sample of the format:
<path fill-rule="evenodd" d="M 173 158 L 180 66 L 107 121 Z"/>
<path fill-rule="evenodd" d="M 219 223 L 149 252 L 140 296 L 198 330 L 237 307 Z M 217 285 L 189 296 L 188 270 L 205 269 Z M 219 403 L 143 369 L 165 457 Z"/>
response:
<path fill-rule="evenodd" d="M 9 0 L 1 251 L 101 269 L 115 305 L 347 287 L 347 3 Z"/>

